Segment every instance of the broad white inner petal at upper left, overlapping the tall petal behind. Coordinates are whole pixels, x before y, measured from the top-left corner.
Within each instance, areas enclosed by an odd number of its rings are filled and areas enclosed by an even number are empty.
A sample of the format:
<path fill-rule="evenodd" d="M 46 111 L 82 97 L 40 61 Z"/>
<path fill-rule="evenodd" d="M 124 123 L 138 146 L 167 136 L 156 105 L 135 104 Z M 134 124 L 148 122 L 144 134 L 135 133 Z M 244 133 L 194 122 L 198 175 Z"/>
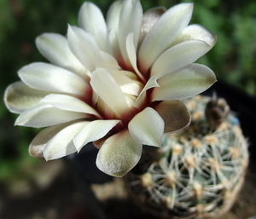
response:
<path fill-rule="evenodd" d="M 67 40 L 73 55 L 87 70 L 94 71 L 96 69 L 95 56 L 100 51 L 94 37 L 77 26 L 68 26 Z"/>

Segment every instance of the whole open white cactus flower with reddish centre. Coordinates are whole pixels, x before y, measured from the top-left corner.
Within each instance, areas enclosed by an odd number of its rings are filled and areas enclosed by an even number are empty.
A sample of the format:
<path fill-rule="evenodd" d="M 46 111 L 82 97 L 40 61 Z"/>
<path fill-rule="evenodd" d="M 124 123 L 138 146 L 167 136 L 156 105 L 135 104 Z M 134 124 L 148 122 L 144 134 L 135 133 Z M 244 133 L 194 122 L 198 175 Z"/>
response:
<path fill-rule="evenodd" d="M 96 165 L 124 176 L 143 145 L 160 147 L 164 133 L 183 129 L 189 112 L 179 100 L 210 87 L 215 75 L 193 63 L 216 43 L 201 26 L 189 25 L 192 3 L 143 14 L 138 0 L 114 2 L 105 21 L 84 3 L 79 27 L 67 37 L 44 33 L 39 51 L 51 64 L 20 69 L 4 100 L 20 113 L 15 124 L 47 127 L 32 141 L 32 156 L 46 160 L 79 152 L 94 141 Z M 189 25 L 189 26 L 188 26 Z"/>

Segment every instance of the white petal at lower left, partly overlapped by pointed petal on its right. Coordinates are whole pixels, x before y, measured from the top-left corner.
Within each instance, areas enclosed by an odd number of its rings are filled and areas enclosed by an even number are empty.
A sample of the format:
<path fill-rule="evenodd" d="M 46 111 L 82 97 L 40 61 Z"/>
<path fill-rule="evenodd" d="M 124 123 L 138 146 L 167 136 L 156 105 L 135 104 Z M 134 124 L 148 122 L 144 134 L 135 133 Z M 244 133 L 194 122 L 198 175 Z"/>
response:
<path fill-rule="evenodd" d="M 87 122 L 74 123 L 58 132 L 44 147 L 44 158 L 46 160 L 62 158 L 77 152 L 73 137 L 84 128 L 85 124 Z"/>

